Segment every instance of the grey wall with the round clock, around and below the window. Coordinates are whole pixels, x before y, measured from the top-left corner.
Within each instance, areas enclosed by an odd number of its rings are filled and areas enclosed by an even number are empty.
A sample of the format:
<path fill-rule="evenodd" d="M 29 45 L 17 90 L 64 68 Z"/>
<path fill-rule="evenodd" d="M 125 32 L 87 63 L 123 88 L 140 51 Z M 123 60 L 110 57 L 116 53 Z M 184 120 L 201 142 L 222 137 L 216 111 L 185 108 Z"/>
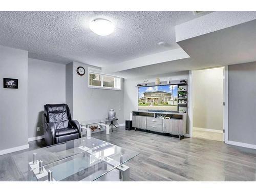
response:
<path fill-rule="evenodd" d="M 76 73 L 77 67 L 82 66 L 86 74 Z M 73 62 L 73 117 L 78 121 L 106 118 L 108 111 L 114 109 L 119 118 L 118 124 L 124 123 L 123 118 L 123 87 L 121 91 L 88 88 L 88 65 Z M 70 74 L 69 74 L 70 75 Z M 70 75 L 72 76 L 72 75 Z M 71 80 L 70 77 L 66 80 Z M 71 82 L 66 81 L 66 85 Z M 68 89 L 66 89 L 66 92 Z M 67 93 L 70 94 L 70 93 Z"/>

